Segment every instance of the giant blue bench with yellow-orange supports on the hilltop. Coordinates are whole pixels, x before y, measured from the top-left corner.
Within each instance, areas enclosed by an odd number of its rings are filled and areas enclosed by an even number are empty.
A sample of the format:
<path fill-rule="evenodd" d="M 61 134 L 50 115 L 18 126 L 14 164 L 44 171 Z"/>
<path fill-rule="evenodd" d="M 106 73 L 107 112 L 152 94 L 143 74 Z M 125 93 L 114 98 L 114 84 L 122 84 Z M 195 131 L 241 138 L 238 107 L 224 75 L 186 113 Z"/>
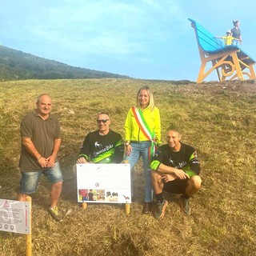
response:
<path fill-rule="evenodd" d="M 214 35 L 204 29 L 198 22 L 189 18 L 191 26 L 194 28 L 195 36 L 198 42 L 198 50 L 201 58 L 201 67 L 197 82 L 202 82 L 212 71 L 216 70 L 218 80 L 246 80 L 255 79 L 253 58 L 250 58 L 238 46 L 225 46 L 223 41 L 214 38 Z M 211 62 L 212 66 L 207 67 Z"/>

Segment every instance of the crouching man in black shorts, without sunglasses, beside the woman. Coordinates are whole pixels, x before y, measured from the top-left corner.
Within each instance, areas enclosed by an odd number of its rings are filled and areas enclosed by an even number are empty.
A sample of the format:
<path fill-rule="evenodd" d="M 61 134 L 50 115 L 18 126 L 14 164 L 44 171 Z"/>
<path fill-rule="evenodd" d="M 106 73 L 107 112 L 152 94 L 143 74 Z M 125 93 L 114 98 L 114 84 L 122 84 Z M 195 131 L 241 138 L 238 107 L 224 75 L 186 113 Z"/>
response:
<path fill-rule="evenodd" d="M 152 186 L 157 198 L 155 218 L 164 217 L 168 202 L 162 190 L 182 194 L 179 203 L 185 214 L 190 214 L 189 198 L 201 188 L 200 163 L 192 146 L 181 142 L 181 134 L 170 127 L 166 131 L 166 145 L 160 146 L 150 163 Z"/>

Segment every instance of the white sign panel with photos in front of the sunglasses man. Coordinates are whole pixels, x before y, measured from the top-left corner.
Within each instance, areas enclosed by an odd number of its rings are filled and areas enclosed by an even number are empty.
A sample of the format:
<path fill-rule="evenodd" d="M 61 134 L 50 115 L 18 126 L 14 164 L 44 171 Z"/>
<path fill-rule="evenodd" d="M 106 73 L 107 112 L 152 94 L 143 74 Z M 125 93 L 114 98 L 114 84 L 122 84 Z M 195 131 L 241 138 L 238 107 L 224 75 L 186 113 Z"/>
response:
<path fill-rule="evenodd" d="M 130 164 L 77 164 L 78 202 L 131 203 Z"/>

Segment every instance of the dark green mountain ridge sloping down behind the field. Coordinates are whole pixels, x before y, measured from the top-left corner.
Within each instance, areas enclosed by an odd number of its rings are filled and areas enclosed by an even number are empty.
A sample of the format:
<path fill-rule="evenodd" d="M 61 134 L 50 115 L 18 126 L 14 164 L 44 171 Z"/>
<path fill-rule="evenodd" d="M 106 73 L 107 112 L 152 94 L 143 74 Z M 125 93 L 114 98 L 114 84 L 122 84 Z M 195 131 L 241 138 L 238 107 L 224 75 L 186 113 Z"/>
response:
<path fill-rule="evenodd" d="M 0 79 L 81 79 L 129 78 L 126 75 L 69 66 L 54 60 L 39 58 L 21 50 L 0 46 Z"/>

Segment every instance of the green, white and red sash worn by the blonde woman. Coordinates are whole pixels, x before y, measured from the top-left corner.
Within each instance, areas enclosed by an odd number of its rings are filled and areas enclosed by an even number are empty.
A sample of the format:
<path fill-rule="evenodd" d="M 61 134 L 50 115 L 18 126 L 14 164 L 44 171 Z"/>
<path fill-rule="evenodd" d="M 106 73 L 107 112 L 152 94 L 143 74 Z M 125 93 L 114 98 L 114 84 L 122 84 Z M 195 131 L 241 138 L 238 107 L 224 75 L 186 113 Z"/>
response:
<path fill-rule="evenodd" d="M 140 130 L 142 131 L 142 134 L 151 141 L 150 150 L 149 150 L 149 159 L 154 156 L 156 151 L 156 141 L 155 141 L 155 134 L 154 130 L 150 130 L 150 126 L 146 123 L 146 120 L 143 116 L 142 110 L 140 108 L 137 108 L 133 106 L 131 108 L 134 114 L 134 118 L 136 122 L 138 123 L 138 126 Z"/>

